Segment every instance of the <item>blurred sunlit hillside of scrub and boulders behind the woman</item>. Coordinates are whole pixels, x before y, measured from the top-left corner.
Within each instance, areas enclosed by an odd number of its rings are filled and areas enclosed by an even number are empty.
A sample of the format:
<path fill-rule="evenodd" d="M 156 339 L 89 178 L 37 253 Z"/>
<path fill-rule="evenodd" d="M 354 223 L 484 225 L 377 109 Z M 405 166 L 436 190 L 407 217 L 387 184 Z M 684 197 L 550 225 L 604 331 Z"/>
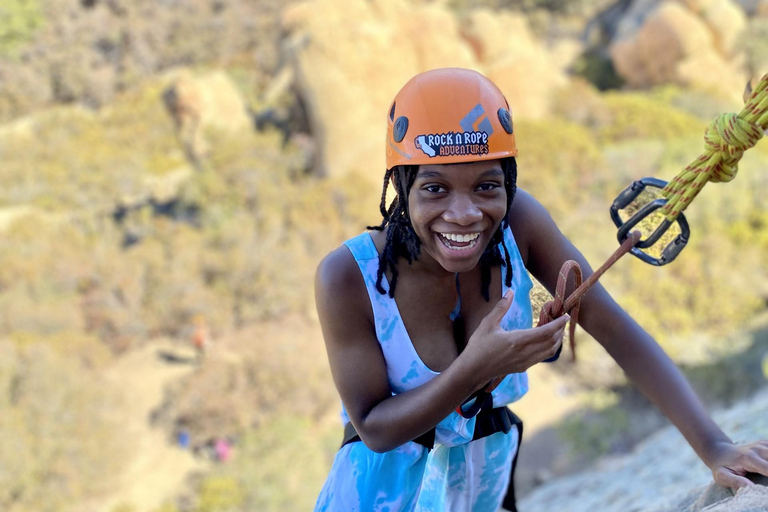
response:
<path fill-rule="evenodd" d="M 613 198 L 768 72 L 768 1 L 3 0 L 0 510 L 311 509 L 341 439 L 314 271 L 444 66 L 505 92 L 519 185 L 599 265 Z M 768 143 L 740 169 L 674 264 L 603 280 L 711 407 L 768 376 Z M 665 425 L 578 349 L 515 408 L 523 492 Z"/>

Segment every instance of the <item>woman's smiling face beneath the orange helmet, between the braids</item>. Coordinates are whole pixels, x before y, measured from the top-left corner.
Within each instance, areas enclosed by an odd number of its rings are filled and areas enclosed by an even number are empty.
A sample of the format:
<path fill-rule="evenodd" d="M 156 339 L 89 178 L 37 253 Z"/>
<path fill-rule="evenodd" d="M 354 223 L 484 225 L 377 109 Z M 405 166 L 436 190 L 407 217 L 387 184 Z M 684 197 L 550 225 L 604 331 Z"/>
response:
<path fill-rule="evenodd" d="M 500 160 L 420 166 L 408 194 L 418 261 L 451 273 L 472 270 L 506 212 Z"/>

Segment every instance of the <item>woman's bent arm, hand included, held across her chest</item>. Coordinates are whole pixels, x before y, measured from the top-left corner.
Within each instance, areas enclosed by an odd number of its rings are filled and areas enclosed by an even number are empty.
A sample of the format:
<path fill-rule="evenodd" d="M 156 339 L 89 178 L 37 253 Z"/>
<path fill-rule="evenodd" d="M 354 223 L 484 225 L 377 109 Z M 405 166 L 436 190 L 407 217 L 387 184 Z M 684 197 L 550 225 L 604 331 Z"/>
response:
<path fill-rule="evenodd" d="M 424 434 L 493 377 L 522 371 L 550 357 L 559 347 L 565 323 L 504 331 L 499 323 L 512 297 L 502 298 L 445 371 L 392 396 L 370 300 L 346 247 L 320 264 L 315 298 L 336 388 L 360 438 L 378 452 Z"/>

